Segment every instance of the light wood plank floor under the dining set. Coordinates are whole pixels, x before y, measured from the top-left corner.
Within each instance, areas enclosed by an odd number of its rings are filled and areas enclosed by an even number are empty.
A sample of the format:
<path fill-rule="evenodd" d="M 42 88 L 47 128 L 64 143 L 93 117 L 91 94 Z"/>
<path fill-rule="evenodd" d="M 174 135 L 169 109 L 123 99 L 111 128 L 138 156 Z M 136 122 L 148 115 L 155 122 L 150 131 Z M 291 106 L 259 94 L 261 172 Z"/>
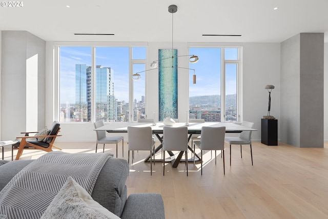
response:
<path fill-rule="evenodd" d="M 95 143 L 57 143 L 70 153 L 93 153 Z M 214 153 L 204 154 L 203 175 L 200 164 L 189 163 L 178 168 L 156 162 L 153 175 L 150 163 L 144 163 L 147 152 L 135 153 L 126 185 L 128 194 L 156 192 L 163 196 L 166 218 L 328 218 L 328 144 L 325 148 L 297 148 L 279 143 L 266 146 L 253 143 L 250 147 L 232 148 L 229 165 L 229 145 L 226 145 L 226 175 L 220 154 L 215 165 Z M 101 146 L 100 146 L 101 148 Z M 98 149 L 102 152 L 102 148 Z M 115 145 L 107 145 L 105 152 L 116 155 Z M 196 152 L 199 152 L 196 150 Z M 15 151 L 16 153 L 16 151 Z M 21 159 L 34 159 L 44 154 L 24 151 Z M 191 153 L 189 153 L 191 156 Z M 118 157 L 122 157 L 119 145 Z M 124 158 L 127 159 L 127 144 Z M 167 155 L 168 157 L 168 155 Z M 5 159 L 10 160 L 7 148 Z M 160 154 L 157 154 L 160 158 Z"/>

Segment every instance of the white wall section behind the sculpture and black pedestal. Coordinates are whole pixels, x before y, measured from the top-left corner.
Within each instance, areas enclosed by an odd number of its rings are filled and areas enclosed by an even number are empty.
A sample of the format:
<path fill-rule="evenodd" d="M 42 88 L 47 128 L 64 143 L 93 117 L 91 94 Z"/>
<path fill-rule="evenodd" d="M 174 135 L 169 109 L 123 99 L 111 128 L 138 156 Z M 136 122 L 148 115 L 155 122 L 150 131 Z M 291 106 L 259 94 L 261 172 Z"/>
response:
<path fill-rule="evenodd" d="M 266 85 L 274 85 L 271 92 L 271 111 L 278 120 L 280 141 L 280 44 L 244 43 L 242 54 L 242 120 L 254 122 L 253 141 L 261 141 L 261 118 L 268 114 L 269 93 Z"/>

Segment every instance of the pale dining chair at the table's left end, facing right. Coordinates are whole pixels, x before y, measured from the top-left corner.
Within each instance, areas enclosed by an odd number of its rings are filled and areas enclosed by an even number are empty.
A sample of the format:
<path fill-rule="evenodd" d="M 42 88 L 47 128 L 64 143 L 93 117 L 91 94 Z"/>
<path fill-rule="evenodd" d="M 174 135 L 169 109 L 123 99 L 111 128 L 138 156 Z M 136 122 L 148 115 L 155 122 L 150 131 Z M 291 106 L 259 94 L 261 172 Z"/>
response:
<path fill-rule="evenodd" d="M 94 123 L 95 128 L 104 126 L 103 121 Z M 96 131 L 96 153 L 98 144 L 104 144 L 103 153 L 105 152 L 105 144 L 116 144 L 116 157 L 117 157 L 117 144 L 122 141 L 122 156 L 124 156 L 124 136 L 106 136 L 106 131 Z"/>

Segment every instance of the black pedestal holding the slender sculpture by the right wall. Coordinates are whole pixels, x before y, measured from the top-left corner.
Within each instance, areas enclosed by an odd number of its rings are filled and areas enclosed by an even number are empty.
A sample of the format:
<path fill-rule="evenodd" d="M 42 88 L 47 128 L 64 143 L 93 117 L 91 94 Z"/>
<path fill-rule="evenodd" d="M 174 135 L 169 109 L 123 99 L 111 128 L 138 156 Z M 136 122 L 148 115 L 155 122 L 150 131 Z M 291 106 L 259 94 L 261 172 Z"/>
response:
<path fill-rule="evenodd" d="M 269 146 L 278 145 L 278 120 L 261 119 L 261 143 Z"/>

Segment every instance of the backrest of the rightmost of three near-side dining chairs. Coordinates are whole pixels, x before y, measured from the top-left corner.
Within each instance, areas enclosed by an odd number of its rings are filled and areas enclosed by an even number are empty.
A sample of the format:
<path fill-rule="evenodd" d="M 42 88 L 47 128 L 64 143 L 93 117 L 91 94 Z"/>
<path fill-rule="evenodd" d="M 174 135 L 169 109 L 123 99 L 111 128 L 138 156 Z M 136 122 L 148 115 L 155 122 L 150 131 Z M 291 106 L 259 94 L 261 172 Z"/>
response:
<path fill-rule="evenodd" d="M 201 150 L 224 150 L 226 127 L 201 127 Z"/>

